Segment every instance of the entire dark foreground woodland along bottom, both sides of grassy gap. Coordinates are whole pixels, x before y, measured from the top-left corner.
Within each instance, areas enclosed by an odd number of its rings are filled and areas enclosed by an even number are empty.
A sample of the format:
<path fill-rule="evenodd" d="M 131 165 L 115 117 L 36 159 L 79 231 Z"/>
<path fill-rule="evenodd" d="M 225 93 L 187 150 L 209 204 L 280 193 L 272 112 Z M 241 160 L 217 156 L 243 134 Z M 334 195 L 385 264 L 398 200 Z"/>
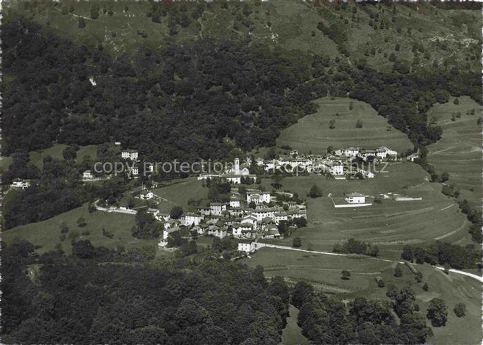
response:
<path fill-rule="evenodd" d="M 289 303 L 314 344 L 420 344 L 432 334 L 411 288 L 346 306 L 214 252 L 152 261 L 88 240 L 71 256 L 35 256 L 26 241 L 2 248 L 7 344 L 279 344 Z"/>

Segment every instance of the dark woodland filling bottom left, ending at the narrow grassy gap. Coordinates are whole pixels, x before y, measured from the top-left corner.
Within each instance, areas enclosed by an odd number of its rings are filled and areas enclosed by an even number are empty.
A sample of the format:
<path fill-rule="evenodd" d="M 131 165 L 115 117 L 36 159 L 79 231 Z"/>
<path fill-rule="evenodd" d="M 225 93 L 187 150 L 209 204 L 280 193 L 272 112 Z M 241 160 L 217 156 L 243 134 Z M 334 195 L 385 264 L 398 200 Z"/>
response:
<path fill-rule="evenodd" d="M 3 344 L 279 344 L 288 286 L 262 268 L 155 265 L 76 242 L 73 255 L 2 244 Z M 125 264 L 123 264 L 125 262 Z M 28 274 L 29 273 L 29 274 Z"/>

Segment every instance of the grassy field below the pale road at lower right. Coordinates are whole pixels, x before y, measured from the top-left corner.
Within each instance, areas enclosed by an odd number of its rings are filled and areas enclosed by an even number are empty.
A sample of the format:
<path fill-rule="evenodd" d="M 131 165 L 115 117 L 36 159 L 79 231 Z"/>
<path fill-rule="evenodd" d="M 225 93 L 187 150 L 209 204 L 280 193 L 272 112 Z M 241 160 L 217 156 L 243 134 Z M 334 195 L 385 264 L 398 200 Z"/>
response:
<path fill-rule="evenodd" d="M 432 327 L 434 337 L 428 339 L 430 344 L 480 344 L 481 332 L 481 294 L 482 287 L 475 279 L 442 271 L 424 264 L 415 266 L 423 273 L 423 282 L 417 284 L 413 273 L 402 264 L 403 276 L 394 277 L 394 268 L 398 265 L 371 258 L 351 259 L 331 255 L 301 253 L 275 248 L 262 248 L 253 254 L 252 259 L 243 259 L 250 266 L 264 266 L 267 277 L 277 275 L 285 277 L 288 282 L 295 283 L 299 279 L 311 282 L 325 293 L 336 293 L 345 299 L 366 297 L 368 299 L 384 299 L 387 287 L 395 285 L 413 286 L 416 303 L 420 305 L 422 315 L 430 299 L 444 299 L 449 309 L 446 326 Z M 342 280 L 341 270 L 350 270 L 351 279 Z M 384 280 L 385 287 L 378 288 L 375 277 Z M 428 283 L 428 291 L 422 289 Z M 466 316 L 458 318 L 453 313 L 457 303 L 466 304 Z M 430 325 L 430 322 L 427 322 Z"/>

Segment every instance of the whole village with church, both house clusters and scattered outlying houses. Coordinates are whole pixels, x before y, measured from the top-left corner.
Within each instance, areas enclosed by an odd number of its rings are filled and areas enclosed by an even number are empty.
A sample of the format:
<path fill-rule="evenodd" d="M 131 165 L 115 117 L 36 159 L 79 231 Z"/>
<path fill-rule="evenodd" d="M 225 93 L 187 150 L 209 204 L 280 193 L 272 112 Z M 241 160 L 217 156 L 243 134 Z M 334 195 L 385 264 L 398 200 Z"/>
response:
<path fill-rule="evenodd" d="M 115 143 L 120 146 L 119 142 Z M 137 150 L 121 150 L 122 168 L 126 168 L 128 176 L 132 179 L 139 177 L 141 166 L 143 171 L 150 174 L 155 168 L 152 164 L 141 163 Z M 419 157 L 416 154 L 409 155 L 406 160 L 413 161 Z M 251 253 L 256 248 L 259 239 L 280 239 L 290 235 L 297 227 L 305 226 L 307 219 L 306 205 L 303 201 L 293 197 L 293 193 L 272 192 L 259 188 L 248 188 L 257 181 L 257 172 L 282 175 L 319 174 L 333 179 L 373 179 L 377 173 L 377 165 L 388 161 L 402 160 L 396 150 L 385 146 L 375 149 L 364 150 L 362 148 L 328 148 L 326 155 L 299 155 L 297 150 L 290 150 L 284 155 L 278 155 L 265 159 L 262 157 L 247 157 L 246 161 L 240 162 L 235 158 L 233 164 L 226 164 L 223 172 L 202 172 L 197 179 L 202 184 L 210 181 L 226 181 L 230 184 L 229 201 L 209 202 L 199 205 L 191 212 L 182 212 L 180 217 L 171 217 L 168 213 L 161 213 L 157 208 L 145 206 L 147 213 L 161 222 L 163 231 L 159 241 L 159 247 L 168 246 L 169 238 L 174 233 L 180 232 L 184 236 L 195 234 L 196 236 L 213 236 L 223 239 L 225 237 L 238 239 L 238 250 Z M 92 170 L 83 172 L 82 179 L 85 182 L 101 181 L 110 178 L 112 174 L 99 176 Z M 29 181 L 15 180 L 12 188 L 27 188 Z M 250 186 L 251 187 L 251 186 Z M 144 201 L 162 199 L 155 195 L 152 190 L 141 186 L 130 193 L 132 197 Z M 334 200 L 333 200 L 334 201 Z M 353 208 L 371 206 L 366 201 L 366 195 L 348 193 L 344 196 L 342 204 L 336 204 L 335 208 Z M 127 206 L 98 206 L 97 210 L 136 215 L 137 210 Z M 283 230 L 282 230 L 283 229 Z"/>

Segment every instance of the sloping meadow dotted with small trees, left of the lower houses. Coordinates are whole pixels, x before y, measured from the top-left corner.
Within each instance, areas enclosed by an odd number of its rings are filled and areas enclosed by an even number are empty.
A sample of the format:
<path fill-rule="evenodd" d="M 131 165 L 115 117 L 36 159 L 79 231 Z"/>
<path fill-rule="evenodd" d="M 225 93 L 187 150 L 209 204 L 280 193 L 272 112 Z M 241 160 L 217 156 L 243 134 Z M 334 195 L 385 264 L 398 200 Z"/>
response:
<path fill-rule="evenodd" d="M 84 217 L 87 225 L 83 228 L 77 226 L 77 219 Z M 66 239 L 61 242 L 59 236 L 60 224 L 65 221 L 69 227 L 66 233 Z M 114 248 L 115 246 L 124 246 L 125 248 L 140 246 L 155 246 L 157 240 L 136 239 L 131 235 L 132 226 L 135 225 L 134 215 L 124 215 L 121 213 L 106 213 L 97 211 L 89 213 L 87 205 L 83 205 L 74 210 L 62 213 L 56 217 L 52 217 L 39 223 L 31 223 L 23 226 L 17 226 L 7 231 L 3 231 L 2 239 L 7 244 L 16 239 L 26 239 L 34 245 L 41 246 L 37 249 L 37 253 L 46 253 L 55 249 L 57 243 L 62 244 L 63 250 L 70 254 L 72 246 L 70 244 L 69 234 L 77 232 L 79 235 L 83 231 L 90 231 L 90 235 L 81 235 L 79 239 L 89 239 L 94 246 L 106 246 Z M 102 229 L 113 234 L 112 239 L 102 235 Z"/>

